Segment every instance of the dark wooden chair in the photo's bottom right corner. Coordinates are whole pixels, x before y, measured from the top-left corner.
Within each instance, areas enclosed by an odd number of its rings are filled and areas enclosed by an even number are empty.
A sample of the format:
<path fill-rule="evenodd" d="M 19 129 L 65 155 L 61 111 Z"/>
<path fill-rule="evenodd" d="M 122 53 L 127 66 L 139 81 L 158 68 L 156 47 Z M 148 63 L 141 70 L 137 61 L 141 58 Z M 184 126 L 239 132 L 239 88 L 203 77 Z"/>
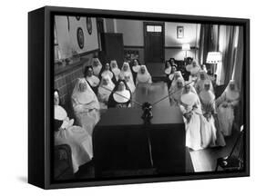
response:
<path fill-rule="evenodd" d="M 243 125 L 241 126 L 241 132 L 227 157 L 220 157 L 217 159 L 217 165 L 215 171 L 218 168 L 222 168 L 224 171 L 242 170 L 243 168 Z M 237 152 L 237 154 L 235 153 Z"/>

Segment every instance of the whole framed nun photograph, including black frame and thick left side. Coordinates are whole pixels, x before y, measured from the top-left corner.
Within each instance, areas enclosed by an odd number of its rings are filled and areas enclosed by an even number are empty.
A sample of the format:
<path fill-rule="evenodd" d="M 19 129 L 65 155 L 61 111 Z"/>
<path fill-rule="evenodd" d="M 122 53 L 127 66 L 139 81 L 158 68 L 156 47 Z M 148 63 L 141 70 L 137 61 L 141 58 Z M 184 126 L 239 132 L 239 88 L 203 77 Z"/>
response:
<path fill-rule="evenodd" d="M 250 175 L 249 19 L 53 6 L 28 16 L 29 183 L 57 189 Z M 98 36 L 99 22 L 118 32 L 102 28 Z M 184 28 L 188 65 L 177 45 Z M 120 36 L 107 42 L 112 34 Z M 107 61 L 104 48 L 118 56 Z M 151 61 L 139 62 L 145 55 Z"/>

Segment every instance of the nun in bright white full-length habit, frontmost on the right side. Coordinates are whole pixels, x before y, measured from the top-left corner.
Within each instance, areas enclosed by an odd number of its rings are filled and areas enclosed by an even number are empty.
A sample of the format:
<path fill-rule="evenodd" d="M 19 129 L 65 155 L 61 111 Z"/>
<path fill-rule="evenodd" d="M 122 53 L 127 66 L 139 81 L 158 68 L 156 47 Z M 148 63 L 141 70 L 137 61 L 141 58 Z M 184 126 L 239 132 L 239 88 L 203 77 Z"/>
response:
<path fill-rule="evenodd" d="M 193 87 L 186 82 L 180 96 L 180 111 L 186 128 L 186 146 L 197 151 L 201 146 L 201 106 L 197 93 L 191 91 Z"/>

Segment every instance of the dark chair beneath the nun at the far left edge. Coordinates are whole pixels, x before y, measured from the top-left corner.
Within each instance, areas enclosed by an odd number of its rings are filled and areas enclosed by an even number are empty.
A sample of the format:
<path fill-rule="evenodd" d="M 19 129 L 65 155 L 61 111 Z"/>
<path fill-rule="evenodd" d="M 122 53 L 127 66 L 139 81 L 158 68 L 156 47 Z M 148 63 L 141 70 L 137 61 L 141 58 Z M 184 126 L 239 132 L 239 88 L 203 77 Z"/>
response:
<path fill-rule="evenodd" d="M 54 179 L 70 180 L 74 178 L 71 148 L 67 144 L 55 146 Z"/>

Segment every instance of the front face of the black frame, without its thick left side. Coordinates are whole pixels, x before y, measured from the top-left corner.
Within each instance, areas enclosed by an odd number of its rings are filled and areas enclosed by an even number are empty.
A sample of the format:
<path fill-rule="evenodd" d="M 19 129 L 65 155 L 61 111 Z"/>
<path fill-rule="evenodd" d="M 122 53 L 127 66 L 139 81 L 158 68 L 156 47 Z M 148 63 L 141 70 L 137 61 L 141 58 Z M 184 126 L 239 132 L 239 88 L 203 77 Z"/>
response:
<path fill-rule="evenodd" d="M 225 18 L 225 17 L 212 17 L 212 16 L 199 16 L 199 15 L 171 15 L 171 14 L 155 14 L 155 13 L 139 13 L 139 12 L 128 12 L 128 11 L 115 11 L 115 10 L 99 10 L 99 9 L 87 9 L 87 8 L 69 8 L 69 7 L 56 7 L 56 6 L 45 6 L 45 185 L 44 189 L 60 189 L 60 188 L 75 188 L 75 187 L 88 187 L 88 186 L 102 186 L 102 185 L 118 185 L 118 184 L 133 184 L 133 183 L 148 183 L 148 182 L 161 182 L 161 181 L 190 181 L 190 180 L 207 180 L 207 179 L 219 179 L 219 178 L 233 178 L 233 177 L 247 177 L 250 176 L 250 19 L 244 18 Z M 239 24 L 243 25 L 245 31 L 245 116 L 246 116 L 246 133 L 245 137 L 245 147 L 246 147 L 246 164 L 245 170 L 240 172 L 218 172 L 218 173 L 210 173 L 210 172 L 198 172 L 192 173 L 190 175 L 179 175 L 179 176 L 168 176 L 168 177 L 153 177 L 153 178 L 134 178 L 134 179 L 126 179 L 126 180 L 108 180 L 108 181 L 72 181 L 72 182 L 61 182 L 61 183 L 52 183 L 50 179 L 50 108 L 51 108 L 51 92 L 49 91 L 53 88 L 53 76 L 54 69 L 50 65 L 51 62 L 51 29 L 50 29 L 50 15 L 56 14 L 58 12 L 63 12 L 66 14 L 81 14 L 86 13 L 87 15 L 109 15 L 116 17 L 117 15 L 120 17 L 127 18 L 160 18 L 160 20 L 181 20 L 186 21 L 197 21 L 200 22 L 204 19 L 205 23 L 213 23 L 218 24 Z M 169 20 L 168 20 L 169 19 Z M 219 22 L 220 20 L 220 22 Z"/>

